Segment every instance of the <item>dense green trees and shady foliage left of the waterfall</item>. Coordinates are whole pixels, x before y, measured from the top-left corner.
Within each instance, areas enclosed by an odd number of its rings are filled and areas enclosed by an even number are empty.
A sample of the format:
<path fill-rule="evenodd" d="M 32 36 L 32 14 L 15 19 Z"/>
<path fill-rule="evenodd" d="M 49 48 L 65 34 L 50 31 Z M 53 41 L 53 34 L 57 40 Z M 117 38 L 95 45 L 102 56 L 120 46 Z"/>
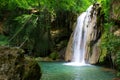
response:
<path fill-rule="evenodd" d="M 0 16 L 4 35 L 0 44 L 22 47 L 34 52 L 34 56 L 46 56 L 59 43 L 51 39 L 51 29 L 66 27 L 68 39 L 72 16 L 85 11 L 90 4 L 90 0 L 2 0 Z"/>

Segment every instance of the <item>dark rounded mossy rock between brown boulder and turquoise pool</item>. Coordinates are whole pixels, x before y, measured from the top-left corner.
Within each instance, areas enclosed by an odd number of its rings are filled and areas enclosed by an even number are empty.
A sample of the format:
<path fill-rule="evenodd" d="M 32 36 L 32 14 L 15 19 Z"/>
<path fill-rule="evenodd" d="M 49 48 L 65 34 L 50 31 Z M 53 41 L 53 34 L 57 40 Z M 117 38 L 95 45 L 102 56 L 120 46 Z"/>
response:
<path fill-rule="evenodd" d="M 41 70 L 38 63 L 34 59 L 25 59 L 25 73 L 23 75 L 23 80 L 39 80 L 41 77 Z"/>

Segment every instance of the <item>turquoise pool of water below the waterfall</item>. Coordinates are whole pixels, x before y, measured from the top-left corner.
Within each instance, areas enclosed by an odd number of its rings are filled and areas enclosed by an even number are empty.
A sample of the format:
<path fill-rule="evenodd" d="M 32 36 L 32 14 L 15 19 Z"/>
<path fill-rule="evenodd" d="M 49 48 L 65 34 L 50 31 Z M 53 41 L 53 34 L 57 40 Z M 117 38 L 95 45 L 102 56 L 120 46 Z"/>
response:
<path fill-rule="evenodd" d="M 67 66 L 64 62 L 40 62 L 41 80 L 112 80 L 115 74 L 98 66 Z"/>

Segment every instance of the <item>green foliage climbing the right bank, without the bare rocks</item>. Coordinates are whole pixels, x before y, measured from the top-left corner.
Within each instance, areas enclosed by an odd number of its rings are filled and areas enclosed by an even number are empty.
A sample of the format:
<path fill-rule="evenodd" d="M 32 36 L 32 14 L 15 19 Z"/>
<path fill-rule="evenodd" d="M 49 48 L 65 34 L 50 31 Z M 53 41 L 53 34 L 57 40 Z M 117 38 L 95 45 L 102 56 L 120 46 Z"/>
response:
<path fill-rule="evenodd" d="M 101 38 L 100 61 L 101 62 L 104 61 L 104 58 L 107 55 L 115 57 L 114 59 L 112 59 L 112 61 L 113 61 L 112 63 L 114 64 L 114 66 L 117 67 L 117 70 L 118 70 L 117 75 L 120 76 L 120 36 L 117 36 L 114 34 L 115 30 L 117 30 L 115 26 L 119 25 L 119 24 L 112 23 L 114 21 L 110 20 L 111 4 L 115 5 L 112 3 L 112 1 L 113 0 L 101 0 L 101 4 L 103 6 L 102 10 L 105 14 L 104 15 L 105 21 L 104 21 L 104 33 L 102 34 L 102 38 Z M 112 9 L 112 11 L 114 11 L 114 10 L 115 9 Z M 119 10 L 118 10 L 118 12 L 119 12 Z M 114 14 L 116 14 L 116 13 L 114 13 Z"/>

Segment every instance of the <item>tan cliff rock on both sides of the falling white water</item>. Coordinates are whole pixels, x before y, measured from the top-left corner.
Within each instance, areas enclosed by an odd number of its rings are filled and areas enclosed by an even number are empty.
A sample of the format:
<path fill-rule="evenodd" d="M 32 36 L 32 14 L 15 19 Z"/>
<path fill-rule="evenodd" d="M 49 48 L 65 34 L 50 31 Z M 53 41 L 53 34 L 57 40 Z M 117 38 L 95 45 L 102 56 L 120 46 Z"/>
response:
<path fill-rule="evenodd" d="M 93 4 L 93 8 L 90 13 L 90 20 L 88 21 L 87 25 L 87 40 L 86 40 L 86 53 L 85 53 L 85 60 L 90 64 L 95 64 L 98 62 L 100 56 L 100 37 L 102 33 L 102 21 L 103 15 L 101 14 L 101 6 L 98 3 Z M 65 60 L 71 61 L 72 59 L 72 41 L 73 41 L 73 34 L 69 40 Z"/>

